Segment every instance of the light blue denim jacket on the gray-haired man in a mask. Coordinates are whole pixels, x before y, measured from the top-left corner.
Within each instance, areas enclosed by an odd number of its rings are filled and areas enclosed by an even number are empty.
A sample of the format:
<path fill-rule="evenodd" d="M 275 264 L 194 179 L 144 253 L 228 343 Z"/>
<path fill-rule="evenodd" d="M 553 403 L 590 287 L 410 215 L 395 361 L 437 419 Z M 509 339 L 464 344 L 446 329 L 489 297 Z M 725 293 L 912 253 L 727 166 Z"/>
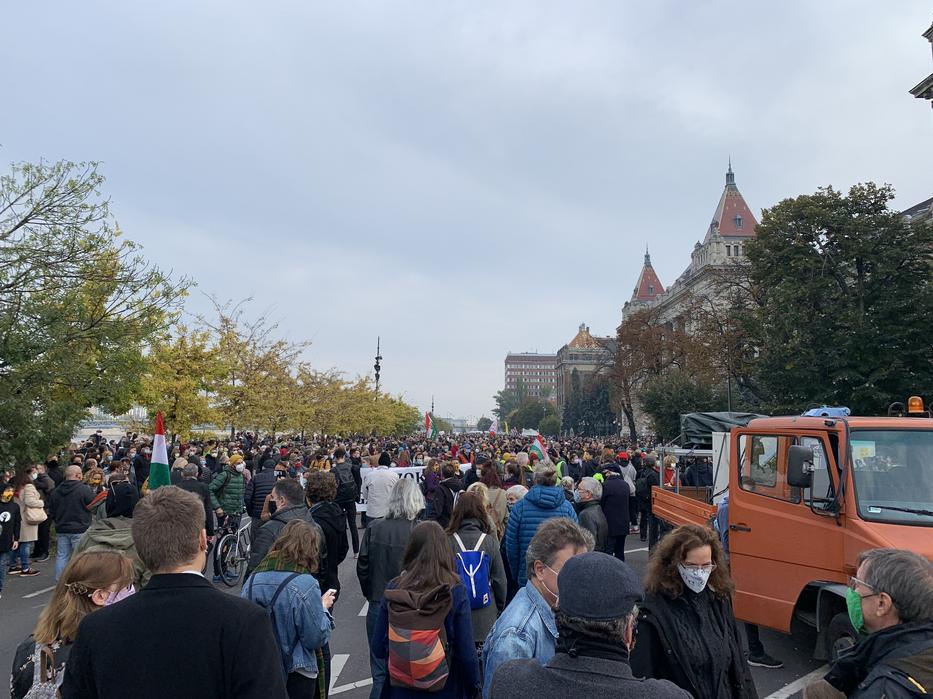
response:
<path fill-rule="evenodd" d="M 489 699 L 492 676 L 504 662 L 535 659 L 542 665 L 557 647 L 554 612 L 530 582 L 502 612 L 483 645 L 483 699 Z"/>

